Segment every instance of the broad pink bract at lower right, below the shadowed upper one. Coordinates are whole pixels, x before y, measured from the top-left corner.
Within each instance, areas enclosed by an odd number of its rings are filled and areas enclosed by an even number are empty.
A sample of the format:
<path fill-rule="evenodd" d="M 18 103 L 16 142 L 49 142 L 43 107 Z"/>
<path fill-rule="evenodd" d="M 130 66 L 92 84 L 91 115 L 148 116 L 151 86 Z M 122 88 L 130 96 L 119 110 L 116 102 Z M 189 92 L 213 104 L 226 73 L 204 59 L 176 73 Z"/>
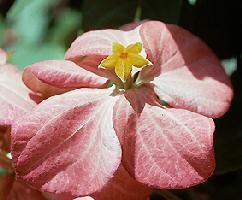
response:
<path fill-rule="evenodd" d="M 124 167 L 137 181 L 158 188 L 186 188 L 204 182 L 215 167 L 213 120 L 182 109 L 162 108 L 155 98 L 143 86 L 127 91 L 115 105 L 114 125 Z"/>

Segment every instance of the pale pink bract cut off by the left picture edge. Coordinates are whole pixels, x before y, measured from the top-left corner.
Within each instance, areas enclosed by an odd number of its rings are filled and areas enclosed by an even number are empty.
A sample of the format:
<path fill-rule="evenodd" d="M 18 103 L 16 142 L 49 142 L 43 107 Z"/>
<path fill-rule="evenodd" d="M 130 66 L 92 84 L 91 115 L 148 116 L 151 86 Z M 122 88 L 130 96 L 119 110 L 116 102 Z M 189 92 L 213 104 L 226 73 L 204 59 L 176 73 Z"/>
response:
<path fill-rule="evenodd" d="M 15 66 L 0 66 L 0 125 L 11 125 L 13 120 L 35 106 L 29 93 Z"/>

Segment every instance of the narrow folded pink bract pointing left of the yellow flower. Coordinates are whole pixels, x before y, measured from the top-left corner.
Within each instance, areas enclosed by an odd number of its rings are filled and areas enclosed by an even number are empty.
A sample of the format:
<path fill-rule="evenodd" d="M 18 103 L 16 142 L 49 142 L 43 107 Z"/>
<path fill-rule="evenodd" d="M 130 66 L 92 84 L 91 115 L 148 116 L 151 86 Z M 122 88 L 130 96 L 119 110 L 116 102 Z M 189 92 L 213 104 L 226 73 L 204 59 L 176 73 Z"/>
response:
<path fill-rule="evenodd" d="M 107 79 L 80 68 L 67 60 L 48 60 L 27 67 L 23 74 L 25 84 L 35 92 L 46 93 L 46 88 L 99 88 Z M 43 86 L 46 88 L 43 90 Z"/>

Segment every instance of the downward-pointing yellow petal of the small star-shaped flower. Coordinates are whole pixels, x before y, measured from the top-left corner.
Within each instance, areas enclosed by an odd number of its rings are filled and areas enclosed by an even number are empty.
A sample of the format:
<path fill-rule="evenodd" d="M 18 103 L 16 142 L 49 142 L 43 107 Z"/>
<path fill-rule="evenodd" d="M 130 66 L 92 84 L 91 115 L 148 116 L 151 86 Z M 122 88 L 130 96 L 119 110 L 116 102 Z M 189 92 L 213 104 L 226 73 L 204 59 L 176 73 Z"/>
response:
<path fill-rule="evenodd" d="M 120 59 L 116 63 L 115 73 L 123 82 L 125 82 L 127 79 L 130 78 L 131 71 L 132 71 L 131 63 L 129 63 L 123 59 Z"/>

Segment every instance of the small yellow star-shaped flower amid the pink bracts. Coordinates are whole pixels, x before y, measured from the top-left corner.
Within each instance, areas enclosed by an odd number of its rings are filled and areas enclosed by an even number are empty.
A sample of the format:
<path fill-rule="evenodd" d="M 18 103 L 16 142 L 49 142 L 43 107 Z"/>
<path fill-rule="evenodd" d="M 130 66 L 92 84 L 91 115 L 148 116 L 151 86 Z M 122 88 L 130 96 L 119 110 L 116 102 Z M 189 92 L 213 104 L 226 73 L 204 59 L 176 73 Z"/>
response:
<path fill-rule="evenodd" d="M 118 43 L 113 43 L 113 54 L 101 62 L 105 69 L 115 69 L 117 76 L 125 82 L 130 78 L 132 66 L 142 68 L 149 63 L 139 53 L 142 51 L 142 43 L 136 42 L 128 45 L 126 48 Z"/>

